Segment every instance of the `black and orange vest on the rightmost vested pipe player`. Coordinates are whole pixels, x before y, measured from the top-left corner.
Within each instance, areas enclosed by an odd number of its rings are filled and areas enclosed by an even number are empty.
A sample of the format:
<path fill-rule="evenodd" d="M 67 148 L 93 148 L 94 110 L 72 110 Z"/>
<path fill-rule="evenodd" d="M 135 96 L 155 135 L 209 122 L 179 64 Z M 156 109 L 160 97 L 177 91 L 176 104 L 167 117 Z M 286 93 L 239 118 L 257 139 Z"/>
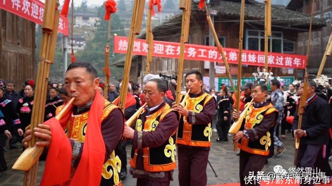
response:
<path fill-rule="evenodd" d="M 255 127 L 260 126 L 260 123 L 263 121 L 265 116 L 273 112 L 278 113 L 277 109 L 274 108 L 272 103 L 269 103 L 268 105 L 260 108 L 254 108 L 253 104 L 250 105 L 249 110 L 246 113 L 245 119 L 243 120 L 240 131 L 244 130 L 245 128 L 255 129 Z M 248 138 L 242 138 L 239 140 L 238 147 L 241 150 L 251 154 L 268 156 L 270 153 L 269 147 L 271 146 L 271 137 L 273 137 L 274 132 L 273 126 L 276 124 L 277 118 L 278 114 L 275 118 L 275 121 L 271 123 L 271 128 L 269 131 L 266 132 L 266 135 L 255 141 L 251 141 Z"/>

